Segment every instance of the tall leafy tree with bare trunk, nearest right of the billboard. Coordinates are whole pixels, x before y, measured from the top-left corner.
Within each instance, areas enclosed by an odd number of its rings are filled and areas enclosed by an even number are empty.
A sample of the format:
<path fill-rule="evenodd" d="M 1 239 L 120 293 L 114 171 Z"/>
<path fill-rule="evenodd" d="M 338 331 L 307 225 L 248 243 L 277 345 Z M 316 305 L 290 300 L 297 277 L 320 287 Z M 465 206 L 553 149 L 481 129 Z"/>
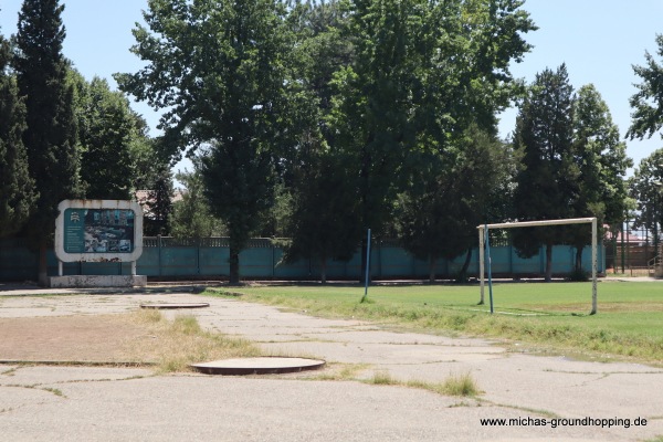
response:
<path fill-rule="evenodd" d="M 230 281 L 240 278 L 240 251 L 271 207 L 274 146 L 284 127 L 288 36 L 285 7 L 273 0 L 149 0 L 147 27 L 131 51 L 148 62 L 116 78 L 120 88 L 167 108 L 166 151 L 209 151 L 206 196 L 230 234 Z"/>

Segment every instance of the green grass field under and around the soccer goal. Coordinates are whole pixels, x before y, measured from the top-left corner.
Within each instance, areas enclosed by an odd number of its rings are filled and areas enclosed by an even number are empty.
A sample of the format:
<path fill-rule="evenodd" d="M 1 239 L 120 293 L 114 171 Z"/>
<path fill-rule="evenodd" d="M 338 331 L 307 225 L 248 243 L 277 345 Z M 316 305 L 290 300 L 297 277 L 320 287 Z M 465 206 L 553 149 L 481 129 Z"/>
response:
<path fill-rule="evenodd" d="M 245 301 L 325 317 L 355 317 L 424 330 L 503 338 L 528 351 L 629 359 L 663 366 L 663 283 L 601 282 L 598 314 L 590 283 L 494 284 L 495 314 L 477 305 L 477 285 L 248 286 Z M 228 292 L 209 290 L 210 295 Z M 515 348 L 515 346 L 514 346 Z"/>

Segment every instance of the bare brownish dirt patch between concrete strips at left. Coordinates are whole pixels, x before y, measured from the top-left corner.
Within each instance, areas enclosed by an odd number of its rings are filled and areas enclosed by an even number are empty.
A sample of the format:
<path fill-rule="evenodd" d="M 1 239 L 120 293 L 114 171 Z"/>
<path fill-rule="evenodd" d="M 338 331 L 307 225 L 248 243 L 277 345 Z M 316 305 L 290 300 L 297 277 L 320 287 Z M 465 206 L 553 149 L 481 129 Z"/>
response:
<path fill-rule="evenodd" d="M 152 340 L 130 315 L 0 318 L 1 360 L 149 362 Z"/>

